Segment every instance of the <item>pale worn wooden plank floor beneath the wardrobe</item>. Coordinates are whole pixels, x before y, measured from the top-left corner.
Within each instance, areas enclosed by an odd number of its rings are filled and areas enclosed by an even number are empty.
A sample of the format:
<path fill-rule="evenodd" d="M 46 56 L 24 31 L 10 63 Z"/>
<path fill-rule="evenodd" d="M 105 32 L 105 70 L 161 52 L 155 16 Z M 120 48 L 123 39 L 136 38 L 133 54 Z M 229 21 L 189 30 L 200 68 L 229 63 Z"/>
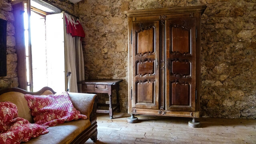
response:
<path fill-rule="evenodd" d="M 256 120 L 200 118 L 202 127 L 190 128 L 191 118 L 137 115 L 139 122 L 127 122 L 129 114 L 98 114 L 95 144 L 254 144 Z M 86 142 L 93 144 L 90 139 Z"/>

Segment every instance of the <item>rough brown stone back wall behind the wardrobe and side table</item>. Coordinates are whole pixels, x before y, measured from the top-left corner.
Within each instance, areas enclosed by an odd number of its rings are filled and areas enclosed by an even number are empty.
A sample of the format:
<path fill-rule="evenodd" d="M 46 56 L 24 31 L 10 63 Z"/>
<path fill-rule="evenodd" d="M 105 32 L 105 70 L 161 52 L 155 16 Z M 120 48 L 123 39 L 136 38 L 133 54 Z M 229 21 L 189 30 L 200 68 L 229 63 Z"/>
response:
<path fill-rule="evenodd" d="M 256 118 L 256 0 L 83 0 L 76 5 L 86 33 L 86 77 L 124 79 L 119 95 L 127 111 L 123 12 L 202 4 L 208 8 L 201 29 L 201 116 Z"/>

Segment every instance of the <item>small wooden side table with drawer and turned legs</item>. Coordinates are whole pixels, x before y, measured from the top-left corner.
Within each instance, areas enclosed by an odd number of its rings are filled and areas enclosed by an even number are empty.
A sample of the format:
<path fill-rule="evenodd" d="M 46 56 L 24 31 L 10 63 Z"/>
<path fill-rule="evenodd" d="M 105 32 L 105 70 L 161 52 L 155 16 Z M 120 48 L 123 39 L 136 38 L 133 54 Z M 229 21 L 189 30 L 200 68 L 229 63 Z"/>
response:
<path fill-rule="evenodd" d="M 120 110 L 119 103 L 119 83 L 122 82 L 122 79 L 91 79 L 91 80 L 82 80 L 79 84 L 82 84 L 83 93 L 105 93 L 109 94 L 109 110 L 97 110 L 99 113 L 109 113 L 110 119 L 113 119 L 113 111 L 116 109 Z M 117 104 L 112 107 L 112 90 L 117 91 Z M 99 106 L 106 106 L 106 104 L 98 104 Z M 107 105 L 108 106 L 108 105 Z"/>

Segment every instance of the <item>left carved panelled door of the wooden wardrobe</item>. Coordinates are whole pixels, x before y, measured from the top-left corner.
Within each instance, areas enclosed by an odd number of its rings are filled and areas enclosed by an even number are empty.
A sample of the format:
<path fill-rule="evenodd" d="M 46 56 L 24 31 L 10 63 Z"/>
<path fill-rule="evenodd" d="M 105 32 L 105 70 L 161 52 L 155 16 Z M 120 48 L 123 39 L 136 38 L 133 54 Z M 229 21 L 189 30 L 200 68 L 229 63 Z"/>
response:
<path fill-rule="evenodd" d="M 158 109 L 159 22 L 133 22 L 132 44 L 132 107 Z"/>

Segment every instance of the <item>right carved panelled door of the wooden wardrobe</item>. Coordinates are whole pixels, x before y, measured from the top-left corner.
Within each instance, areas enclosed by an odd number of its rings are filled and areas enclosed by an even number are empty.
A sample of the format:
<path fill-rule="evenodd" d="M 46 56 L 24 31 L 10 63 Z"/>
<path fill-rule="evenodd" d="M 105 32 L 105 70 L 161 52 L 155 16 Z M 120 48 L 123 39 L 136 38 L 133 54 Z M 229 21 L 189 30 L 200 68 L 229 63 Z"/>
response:
<path fill-rule="evenodd" d="M 166 110 L 194 111 L 196 19 L 166 20 Z"/>

